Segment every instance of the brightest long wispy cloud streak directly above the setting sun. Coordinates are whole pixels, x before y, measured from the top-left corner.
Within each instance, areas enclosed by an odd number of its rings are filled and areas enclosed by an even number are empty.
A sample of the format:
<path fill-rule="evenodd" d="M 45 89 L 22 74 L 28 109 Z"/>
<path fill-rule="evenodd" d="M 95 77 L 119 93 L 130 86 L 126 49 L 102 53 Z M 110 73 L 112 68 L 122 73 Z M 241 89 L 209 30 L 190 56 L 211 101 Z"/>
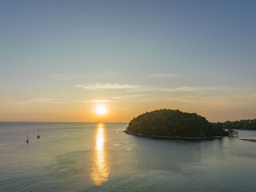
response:
<path fill-rule="evenodd" d="M 130 90 L 137 89 L 141 86 L 130 85 L 130 84 L 113 84 L 113 83 L 97 83 L 95 85 L 76 85 L 75 87 L 82 88 L 85 90 Z"/>

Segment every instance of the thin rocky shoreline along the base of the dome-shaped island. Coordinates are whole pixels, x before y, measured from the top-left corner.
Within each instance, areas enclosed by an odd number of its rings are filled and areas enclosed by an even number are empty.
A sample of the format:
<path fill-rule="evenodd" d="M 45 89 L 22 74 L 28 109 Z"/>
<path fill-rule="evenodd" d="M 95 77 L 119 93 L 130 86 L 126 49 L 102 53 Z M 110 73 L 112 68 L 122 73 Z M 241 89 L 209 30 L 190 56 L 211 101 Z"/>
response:
<path fill-rule="evenodd" d="M 126 134 L 132 134 L 142 138 L 161 138 L 161 139 L 171 139 L 171 140 L 212 140 L 214 138 L 223 138 L 223 136 L 214 136 L 212 138 L 193 138 L 193 137 L 170 137 L 170 136 L 159 136 L 159 135 L 146 135 L 146 134 L 136 134 L 128 130 L 124 130 Z"/>

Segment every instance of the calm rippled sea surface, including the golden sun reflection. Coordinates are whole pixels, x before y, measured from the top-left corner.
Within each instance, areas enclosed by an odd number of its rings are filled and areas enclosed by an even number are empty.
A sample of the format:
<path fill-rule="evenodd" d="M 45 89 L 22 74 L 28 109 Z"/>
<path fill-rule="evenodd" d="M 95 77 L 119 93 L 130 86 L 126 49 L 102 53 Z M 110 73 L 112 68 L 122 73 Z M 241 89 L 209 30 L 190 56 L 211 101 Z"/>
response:
<path fill-rule="evenodd" d="M 138 138 L 126 126 L 0 122 L 0 191 L 256 191 L 256 142 Z"/>

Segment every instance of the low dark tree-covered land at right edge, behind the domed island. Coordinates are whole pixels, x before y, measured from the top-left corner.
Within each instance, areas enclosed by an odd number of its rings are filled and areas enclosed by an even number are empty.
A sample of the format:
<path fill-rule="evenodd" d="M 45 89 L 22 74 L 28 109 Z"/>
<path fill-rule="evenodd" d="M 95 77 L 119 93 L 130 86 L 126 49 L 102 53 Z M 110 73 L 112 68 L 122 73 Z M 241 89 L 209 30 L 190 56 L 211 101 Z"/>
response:
<path fill-rule="evenodd" d="M 214 126 L 226 130 L 256 130 L 256 118 L 236 122 L 215 122 Z"/>

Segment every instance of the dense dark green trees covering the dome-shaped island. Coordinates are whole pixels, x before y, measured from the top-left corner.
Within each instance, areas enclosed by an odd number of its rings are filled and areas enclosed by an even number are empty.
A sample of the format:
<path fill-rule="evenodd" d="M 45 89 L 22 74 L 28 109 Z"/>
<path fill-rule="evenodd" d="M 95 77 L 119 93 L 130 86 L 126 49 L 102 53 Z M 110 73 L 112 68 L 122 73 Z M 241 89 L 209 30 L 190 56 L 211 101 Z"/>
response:
<path fill-rule="evenodd" d="M 228 134 L 198 114 L 166 109 L 139 115 L 130 121 L 126 131 L 132 134 L 191 138 L 212 138 Z"/>

